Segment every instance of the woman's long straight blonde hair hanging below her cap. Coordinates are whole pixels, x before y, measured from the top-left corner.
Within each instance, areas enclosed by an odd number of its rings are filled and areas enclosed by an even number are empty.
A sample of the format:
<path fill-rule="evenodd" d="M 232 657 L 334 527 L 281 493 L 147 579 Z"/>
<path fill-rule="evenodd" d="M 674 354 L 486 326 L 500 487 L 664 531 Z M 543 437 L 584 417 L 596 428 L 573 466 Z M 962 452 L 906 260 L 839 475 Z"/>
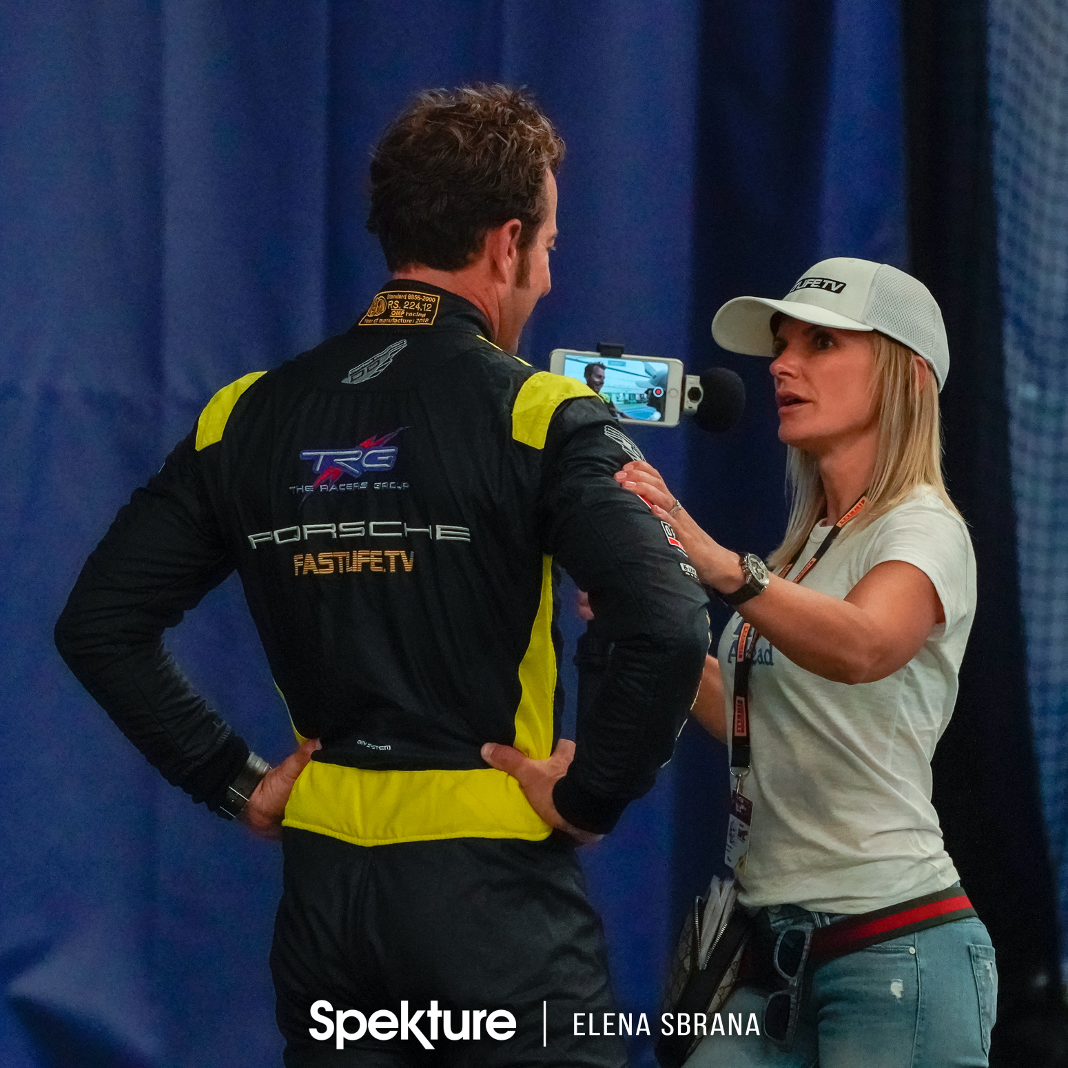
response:
<path fill-rule="evenodd" d="M 933 372 L 920 386 L 912 349 L 878 331 L 873 331 L 871 349 L 875 352 L 871 388 L 878 392 L 879 449 L 867 504 L 843 530 L 842 536 L 863 530 L 922 485 L 930 486 L 954 515 L 960 515 L 942 477 L 942 428 Z M 787 446 L 786 485 L 790 516 L 782 545 L 768 557 L 772 567 L 782 567 L 792 560 L 804 548 L 813 527 L 827 514 L 823 482 L 812 453 Z"/>

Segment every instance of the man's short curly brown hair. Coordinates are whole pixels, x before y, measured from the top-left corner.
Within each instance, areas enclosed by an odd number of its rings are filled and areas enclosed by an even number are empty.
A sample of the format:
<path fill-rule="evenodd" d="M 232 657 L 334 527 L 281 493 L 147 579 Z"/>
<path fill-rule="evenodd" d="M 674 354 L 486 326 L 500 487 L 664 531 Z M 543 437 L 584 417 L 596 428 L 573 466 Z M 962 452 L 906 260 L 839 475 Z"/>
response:
<path fill-rule="evenodd" d="M 509 219 L 522 223 L 527 249 L 548 210 L 546 169 L 555 174 L 563 157 L 563 140 L 523 90 L 420 93 L 372 156 L 367 230 L 391 271 L 459 270 Z"/>

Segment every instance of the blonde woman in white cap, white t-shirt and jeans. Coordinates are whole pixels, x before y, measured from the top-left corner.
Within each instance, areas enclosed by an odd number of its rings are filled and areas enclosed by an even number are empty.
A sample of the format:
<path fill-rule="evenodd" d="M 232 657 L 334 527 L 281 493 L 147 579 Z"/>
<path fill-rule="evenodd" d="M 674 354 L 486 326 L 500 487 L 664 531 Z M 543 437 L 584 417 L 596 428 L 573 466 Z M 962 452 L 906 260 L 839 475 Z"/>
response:
<path fill-rule="evenodd" d="M 782 300 L 728 301 L 712 334 L 772 357 L 792 502 L 767 567 L 649 465 L 616 475 L 737 609 L 694 714 L 731 747 L 727 863 L 758 974 L 723 1007 L 749 1034 L 710 1035 L 688 1065 L 986 1065 L 993 948 L 930 803 L 975 611 L 941 470 L 941 313 L 895 267 L 834 258 Z"/>

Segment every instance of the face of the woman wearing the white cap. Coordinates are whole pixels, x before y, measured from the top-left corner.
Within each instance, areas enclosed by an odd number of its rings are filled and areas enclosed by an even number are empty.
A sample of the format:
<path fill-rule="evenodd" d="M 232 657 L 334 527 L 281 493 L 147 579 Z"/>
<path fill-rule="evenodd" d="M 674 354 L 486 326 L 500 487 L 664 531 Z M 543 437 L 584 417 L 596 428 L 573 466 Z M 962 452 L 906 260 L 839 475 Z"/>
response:
<path fill-rule="evenodd" d="M 819 456 L 878 431 L 869 331 L 783 316 L 774 351 L 780 441 Z"/>

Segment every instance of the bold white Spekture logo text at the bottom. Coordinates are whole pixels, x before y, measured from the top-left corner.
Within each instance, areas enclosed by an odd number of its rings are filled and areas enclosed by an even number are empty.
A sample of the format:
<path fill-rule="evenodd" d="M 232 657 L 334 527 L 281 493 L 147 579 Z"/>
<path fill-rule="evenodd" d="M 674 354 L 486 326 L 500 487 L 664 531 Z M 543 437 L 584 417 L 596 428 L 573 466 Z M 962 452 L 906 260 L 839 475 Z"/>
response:
<path fill-rule="evenodd" d="M 426 1023 L 421 1024 L 424 1016 Z M 507 1009 L 466 1008 L 459 1017 L 459 1031 L 453 1031 L 452 1009 L 438 1008 L 436 1001 L 430 1002 L 429 1008 L 421 1008 L 418 1012 L 409 1012 L 408 1002 L 400 1002 L 399 1020 L 395 1012 L 386 1008 L 380 1008 L 371 1016 L 364 1016 L 359 1009 L 334 1010 L 330 1002 L 317 1001 L 312 1005 L 312 1019 L 321 1026 L 309 1027 L 308 1034 L 319 1042 L 333 1038 L 336 1048 L 343 1050 L 346 1041 L 355 1042 L 364 1035 L 371 1035 L 372 1038 L 384 1042 L 396 1038 L 399 1033 L 402 1041 L 414 1038 L 424 1050 L 433 1050 L 431 1043 L 439 1040 L 439 1023 L 441 1037 L 450 1042 L 478 1041 L 483 1032 L 488 1038 L 503 1042 L 516 1033 L 516 1018 Z M 348 1030 L 350 1022 L 355 1025 L 354 1031 Z M 425 1035 L 420 1030 L 421 1025 L 426 1028 Z"/>

